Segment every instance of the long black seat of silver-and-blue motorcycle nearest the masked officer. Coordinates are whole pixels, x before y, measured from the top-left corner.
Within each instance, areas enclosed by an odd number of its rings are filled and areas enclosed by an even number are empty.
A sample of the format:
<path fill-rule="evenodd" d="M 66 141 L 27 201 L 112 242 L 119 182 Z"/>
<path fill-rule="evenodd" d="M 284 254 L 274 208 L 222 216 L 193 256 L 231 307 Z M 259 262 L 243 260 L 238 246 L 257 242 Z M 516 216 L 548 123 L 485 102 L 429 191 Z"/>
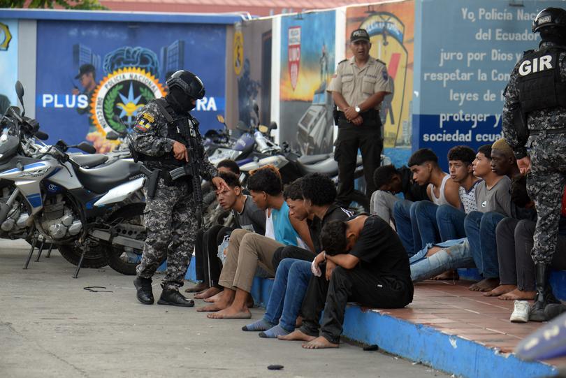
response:
<path fill-rule="evenodd" d="M 79 168 L 77 178 L 85 189 L 96 194 L 106 193 L 113 187 L 140 174 L 140 164 L 128 160 L 117 160 L 100 168 Z"/>

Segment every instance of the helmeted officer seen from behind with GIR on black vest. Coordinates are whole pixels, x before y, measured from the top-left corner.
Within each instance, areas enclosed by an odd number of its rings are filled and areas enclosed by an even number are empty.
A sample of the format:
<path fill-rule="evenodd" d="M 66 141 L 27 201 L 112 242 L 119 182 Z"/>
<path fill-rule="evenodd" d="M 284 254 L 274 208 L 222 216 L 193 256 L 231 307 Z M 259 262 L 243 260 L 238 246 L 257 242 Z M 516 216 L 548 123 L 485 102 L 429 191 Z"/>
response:
<path fill-rule="evenodd" d="M 566 183 L 566 10 L 543 9 L 532 32 L 540 33 L 542 41 L 537 50 L 525 52 L 511 73 L 502 129 L 521 172 L 528 172 L 527 189 L 537 208 L 531 252 L 537 296 L 530 320 L 545 321 L 549 307 L 558 303 L 548 281 Z"/>

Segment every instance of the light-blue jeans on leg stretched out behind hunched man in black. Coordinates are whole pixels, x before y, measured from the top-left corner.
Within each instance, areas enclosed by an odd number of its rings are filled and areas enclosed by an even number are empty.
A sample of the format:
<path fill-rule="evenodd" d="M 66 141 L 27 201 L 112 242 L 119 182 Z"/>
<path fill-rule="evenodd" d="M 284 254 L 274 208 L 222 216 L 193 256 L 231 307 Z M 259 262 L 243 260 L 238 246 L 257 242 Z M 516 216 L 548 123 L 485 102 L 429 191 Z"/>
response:
<path fill-rule="evenodd" d="M 426 252 L 433 247 L 433 245 L 429 244 L 409 260 L 413 282 L 435 277 L 451 269 L 474 267 L 472 250 L 466 238 L 448 240 L 434 246 L 441 247 L 442 250 L 433 254 L 433 256 L 427 257 Z"/>

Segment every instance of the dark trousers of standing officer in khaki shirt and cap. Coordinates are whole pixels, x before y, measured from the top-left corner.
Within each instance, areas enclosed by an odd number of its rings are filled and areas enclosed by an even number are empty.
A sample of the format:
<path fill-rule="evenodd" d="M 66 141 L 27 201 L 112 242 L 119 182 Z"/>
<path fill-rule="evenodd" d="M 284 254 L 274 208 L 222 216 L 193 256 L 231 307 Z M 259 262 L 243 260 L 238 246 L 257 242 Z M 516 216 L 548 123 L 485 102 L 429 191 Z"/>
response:
<path fill-rule="evenodd" d="M 342 208 L 348 208 L 351 202 L 351 194 L 354 192 L 354 172 L 358 159 L 358 148 L 361 150 L 363 160 L 365 194 L 368 199 L 377 189 L 373 183 L 373 173 L 379 167 L 382 159 L 381 127 L 381 122 L 355 126 L 344 118 L 338 119 L 338 138 L 334 143 L 336 146 L 334 159 L 338 161 L 338 196 L 336 202 Z"/>

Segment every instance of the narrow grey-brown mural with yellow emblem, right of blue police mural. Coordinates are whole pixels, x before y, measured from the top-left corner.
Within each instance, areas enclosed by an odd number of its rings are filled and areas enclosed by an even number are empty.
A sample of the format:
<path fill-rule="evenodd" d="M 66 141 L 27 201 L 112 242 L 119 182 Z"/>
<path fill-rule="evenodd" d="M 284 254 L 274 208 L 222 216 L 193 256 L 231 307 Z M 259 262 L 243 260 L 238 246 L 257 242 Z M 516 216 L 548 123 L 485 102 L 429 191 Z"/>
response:
<path fill-rule="evenodd" d="M 235 93 L 227 96 L 226 111 L 234 122 L 246 126 L 271 121 L 271 43 L 272 20 L 254 20 L 235 24 L 232 64 L 228 80 Z"/>

